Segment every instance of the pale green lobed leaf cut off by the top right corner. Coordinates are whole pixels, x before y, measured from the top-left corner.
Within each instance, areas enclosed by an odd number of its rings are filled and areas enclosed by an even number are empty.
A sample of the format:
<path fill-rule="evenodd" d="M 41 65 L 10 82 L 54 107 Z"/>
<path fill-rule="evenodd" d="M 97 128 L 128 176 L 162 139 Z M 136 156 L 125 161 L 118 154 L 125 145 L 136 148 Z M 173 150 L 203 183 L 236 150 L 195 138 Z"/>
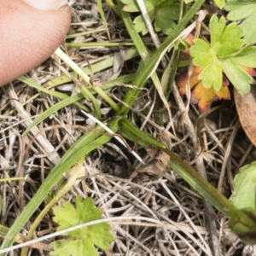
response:
<path fill-rule="evenodd" d="M 244 29 L 243 38 L 248 43 L 256 43 L 256 2 L 254 0 L 230 0 L 224 9 L 229 11 L 227 16 L 229 20 L 243 20 L 241 27 Z"/>

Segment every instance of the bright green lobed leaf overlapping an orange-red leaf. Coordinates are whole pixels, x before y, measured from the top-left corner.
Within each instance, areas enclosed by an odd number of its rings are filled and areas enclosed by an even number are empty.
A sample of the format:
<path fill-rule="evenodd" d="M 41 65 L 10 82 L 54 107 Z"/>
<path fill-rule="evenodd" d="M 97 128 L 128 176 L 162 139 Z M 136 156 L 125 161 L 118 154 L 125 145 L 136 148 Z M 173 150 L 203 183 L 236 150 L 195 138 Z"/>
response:
<path fill-rule="evenodd" d="M 225 26 L 224 17 L 213 15 L 210 20 L 211 43 L 196 39 L 190 48 L 195 66 L 203 67 L 199 74 L 202 84 L 218 91 L 223 86 L 223 75 L 230 80 L 241 95 L 247 94 L 252 76 L 245 67 L 256 67 L 256 49 L 246 45 L 242 28 L 235 23 Z"/>

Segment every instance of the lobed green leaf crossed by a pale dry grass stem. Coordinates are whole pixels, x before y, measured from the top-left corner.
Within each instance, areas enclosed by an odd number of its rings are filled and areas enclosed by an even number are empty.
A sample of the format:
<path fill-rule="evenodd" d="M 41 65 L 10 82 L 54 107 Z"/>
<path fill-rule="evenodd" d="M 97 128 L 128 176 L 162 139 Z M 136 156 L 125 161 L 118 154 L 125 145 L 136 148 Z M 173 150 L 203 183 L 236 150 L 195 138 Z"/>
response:
<path fill-rule="evenodd" d="M 63 202 L 62 207 L 54 207 L 54 221 L 59 224 L 57 230 L 65 230 L 101 218 L 102 209 L 96 208 L 91 198 L 82 200 L 77 197 L 75 203 L 76 209 L 67 201 Z M 101 223 L 68 232 L 67 239 L 51 243 L 54 251 L 50 252 L 50 255 L 98 255 L 96 247 L 103 251 L 108 250 L 109 242 L 113 241 L 110 229 L 110 224 Z"/>

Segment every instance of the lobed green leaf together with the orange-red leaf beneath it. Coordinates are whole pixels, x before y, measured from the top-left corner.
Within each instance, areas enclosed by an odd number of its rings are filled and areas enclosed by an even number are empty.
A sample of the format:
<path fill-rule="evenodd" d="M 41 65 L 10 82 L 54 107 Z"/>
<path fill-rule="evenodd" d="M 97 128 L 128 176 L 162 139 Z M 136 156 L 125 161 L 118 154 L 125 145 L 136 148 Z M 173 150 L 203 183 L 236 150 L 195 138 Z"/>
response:
<path fill-rule="evenodd" d="M 210 20 L 211 41 L 196 38 L 189 49 L 195 67 L 189 79 L 193 90 L 194 102 L 199 102 L 199 108 L 206 110 L 214 96 L 218 99 L 230 99 L 228 80 L 243 96 L 250 90 L 256 67 L 256 48 L 242 38 L 244 28 L 235 22 L 226 26 L 224 17 L 213 15 Z M 227 79 L 226 79 L 227 78 Z M 182 94 L 188 76 L 177 80 Z"/>

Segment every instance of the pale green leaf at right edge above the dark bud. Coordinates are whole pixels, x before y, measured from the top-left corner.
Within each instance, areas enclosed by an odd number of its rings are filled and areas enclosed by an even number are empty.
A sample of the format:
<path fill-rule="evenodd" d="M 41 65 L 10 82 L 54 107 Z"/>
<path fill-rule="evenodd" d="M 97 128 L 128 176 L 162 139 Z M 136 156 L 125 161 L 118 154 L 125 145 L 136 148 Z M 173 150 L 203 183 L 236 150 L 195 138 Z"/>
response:
<path fill-rule="evenodd" d="M 234 192 L 230 197 L 235 207 L 255 209 L 256 161 L 243 166 L 234 179 Z"/>

